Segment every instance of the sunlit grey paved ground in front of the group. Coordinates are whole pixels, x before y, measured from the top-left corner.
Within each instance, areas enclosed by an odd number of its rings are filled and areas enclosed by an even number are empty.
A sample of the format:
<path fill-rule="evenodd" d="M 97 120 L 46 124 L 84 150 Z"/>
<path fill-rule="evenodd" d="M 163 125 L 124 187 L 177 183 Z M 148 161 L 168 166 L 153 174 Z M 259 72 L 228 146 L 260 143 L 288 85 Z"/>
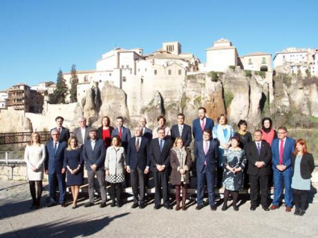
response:
<path fill-rule="evenodd" d="M 47 189 L 47 186 L 46 186 Z M 99 202 L 84 208 L 71 206 L 46 208 L 48 191 L 42 207 L 30 210 L 26 181 L 0 181 L 0 238 L 11 237 L 318 237 L 318 199 L 314 198 L 306 215 L 294 216 L 283 208 L 270 212 L 260 207 L 250 211 L 250 201 L 243 201 L 239 211 L 232 207 L 216 211 L 206 206 L 196 210 L 189 202 L 187 211 L 153 210 L 153 203 L 143 210 L 132 209 L 131 202 L 122 208 L 99 208 Z M 109 201 L 108 203 L 109 204 Z"/>

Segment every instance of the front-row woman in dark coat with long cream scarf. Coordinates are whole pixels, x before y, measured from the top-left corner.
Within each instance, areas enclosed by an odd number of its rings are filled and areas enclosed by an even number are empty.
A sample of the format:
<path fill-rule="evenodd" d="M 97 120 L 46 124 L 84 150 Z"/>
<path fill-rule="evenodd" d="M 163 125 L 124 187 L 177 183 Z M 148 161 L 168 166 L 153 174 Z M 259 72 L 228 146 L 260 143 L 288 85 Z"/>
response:
<path fill-rule="evenodd" d="M 187 199 L 187 186 L 189 184 L 189 170 L 191 166 L 191 153 L 183 146 L 183 139 L 180 137 L 174 141 L 174 148 L 171 149 L 170 164 L 171 177 L 170 181 L 176 187 L 176 210 L 180 210 L 180 190 L 183 190 L 183 210 L 185 207 L 185 200 Z"/>

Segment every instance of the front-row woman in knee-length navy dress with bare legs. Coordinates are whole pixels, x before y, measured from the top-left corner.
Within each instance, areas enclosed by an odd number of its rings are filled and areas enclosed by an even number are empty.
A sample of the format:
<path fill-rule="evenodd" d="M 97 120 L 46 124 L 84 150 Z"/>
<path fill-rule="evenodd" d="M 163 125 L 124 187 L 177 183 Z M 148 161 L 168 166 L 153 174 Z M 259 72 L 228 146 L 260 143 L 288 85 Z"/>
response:
<path fill-rule="evenodd" d="M 72 208 L 77 208 L 77 197 L 79 186 L 84 184 L 84 159 L 82 158 L 82 150 L 78 147 L 76 137 L 68 139 L 68 147 L 64 155 L 64 168 L 66 172 L 66 186 L 71 186 L 73 204 Z"/>

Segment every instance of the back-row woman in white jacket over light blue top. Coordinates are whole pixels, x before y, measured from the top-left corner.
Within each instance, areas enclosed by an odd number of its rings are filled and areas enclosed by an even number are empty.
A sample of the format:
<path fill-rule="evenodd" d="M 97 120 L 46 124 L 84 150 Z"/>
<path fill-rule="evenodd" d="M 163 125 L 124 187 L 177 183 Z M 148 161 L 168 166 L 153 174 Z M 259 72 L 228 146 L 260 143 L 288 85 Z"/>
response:
<path fill-rule="evenodd" d="M 222 176 L 223 176 L 223 166 L 222 166 L 222 155 L 224 150 L 229 148 L 231 138 L 234 135 L 232 126 L 227 124 L 226 115 L 222 114 L 218 117 L 218 124 L 213 127 L 212 130 L 213 139 L 218 141 L 218 163 L 217 163 L 217 188 L 222 187 Z"/>

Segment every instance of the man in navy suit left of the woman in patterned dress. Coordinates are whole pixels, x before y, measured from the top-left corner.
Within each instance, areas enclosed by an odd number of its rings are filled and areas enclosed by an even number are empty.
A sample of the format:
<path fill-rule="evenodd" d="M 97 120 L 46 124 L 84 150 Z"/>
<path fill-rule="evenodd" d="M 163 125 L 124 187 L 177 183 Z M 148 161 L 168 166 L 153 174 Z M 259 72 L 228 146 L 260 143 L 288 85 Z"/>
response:
<path fill-rule="evenodd" d="M 196 210 L 203 208 L 203 196 L 205 181 L 207 184 L 207 194 L 211 210 L 216 210 L 214 177 L 216 172 L 216 161 L 218 159 L 218 146 L 211 139 L 211 130 L 203 131 L 203 140 L 196 141 L 194 146 L 194 155 L 196 156 L 196 174 L 197 174 L 197 200 Z"/>

